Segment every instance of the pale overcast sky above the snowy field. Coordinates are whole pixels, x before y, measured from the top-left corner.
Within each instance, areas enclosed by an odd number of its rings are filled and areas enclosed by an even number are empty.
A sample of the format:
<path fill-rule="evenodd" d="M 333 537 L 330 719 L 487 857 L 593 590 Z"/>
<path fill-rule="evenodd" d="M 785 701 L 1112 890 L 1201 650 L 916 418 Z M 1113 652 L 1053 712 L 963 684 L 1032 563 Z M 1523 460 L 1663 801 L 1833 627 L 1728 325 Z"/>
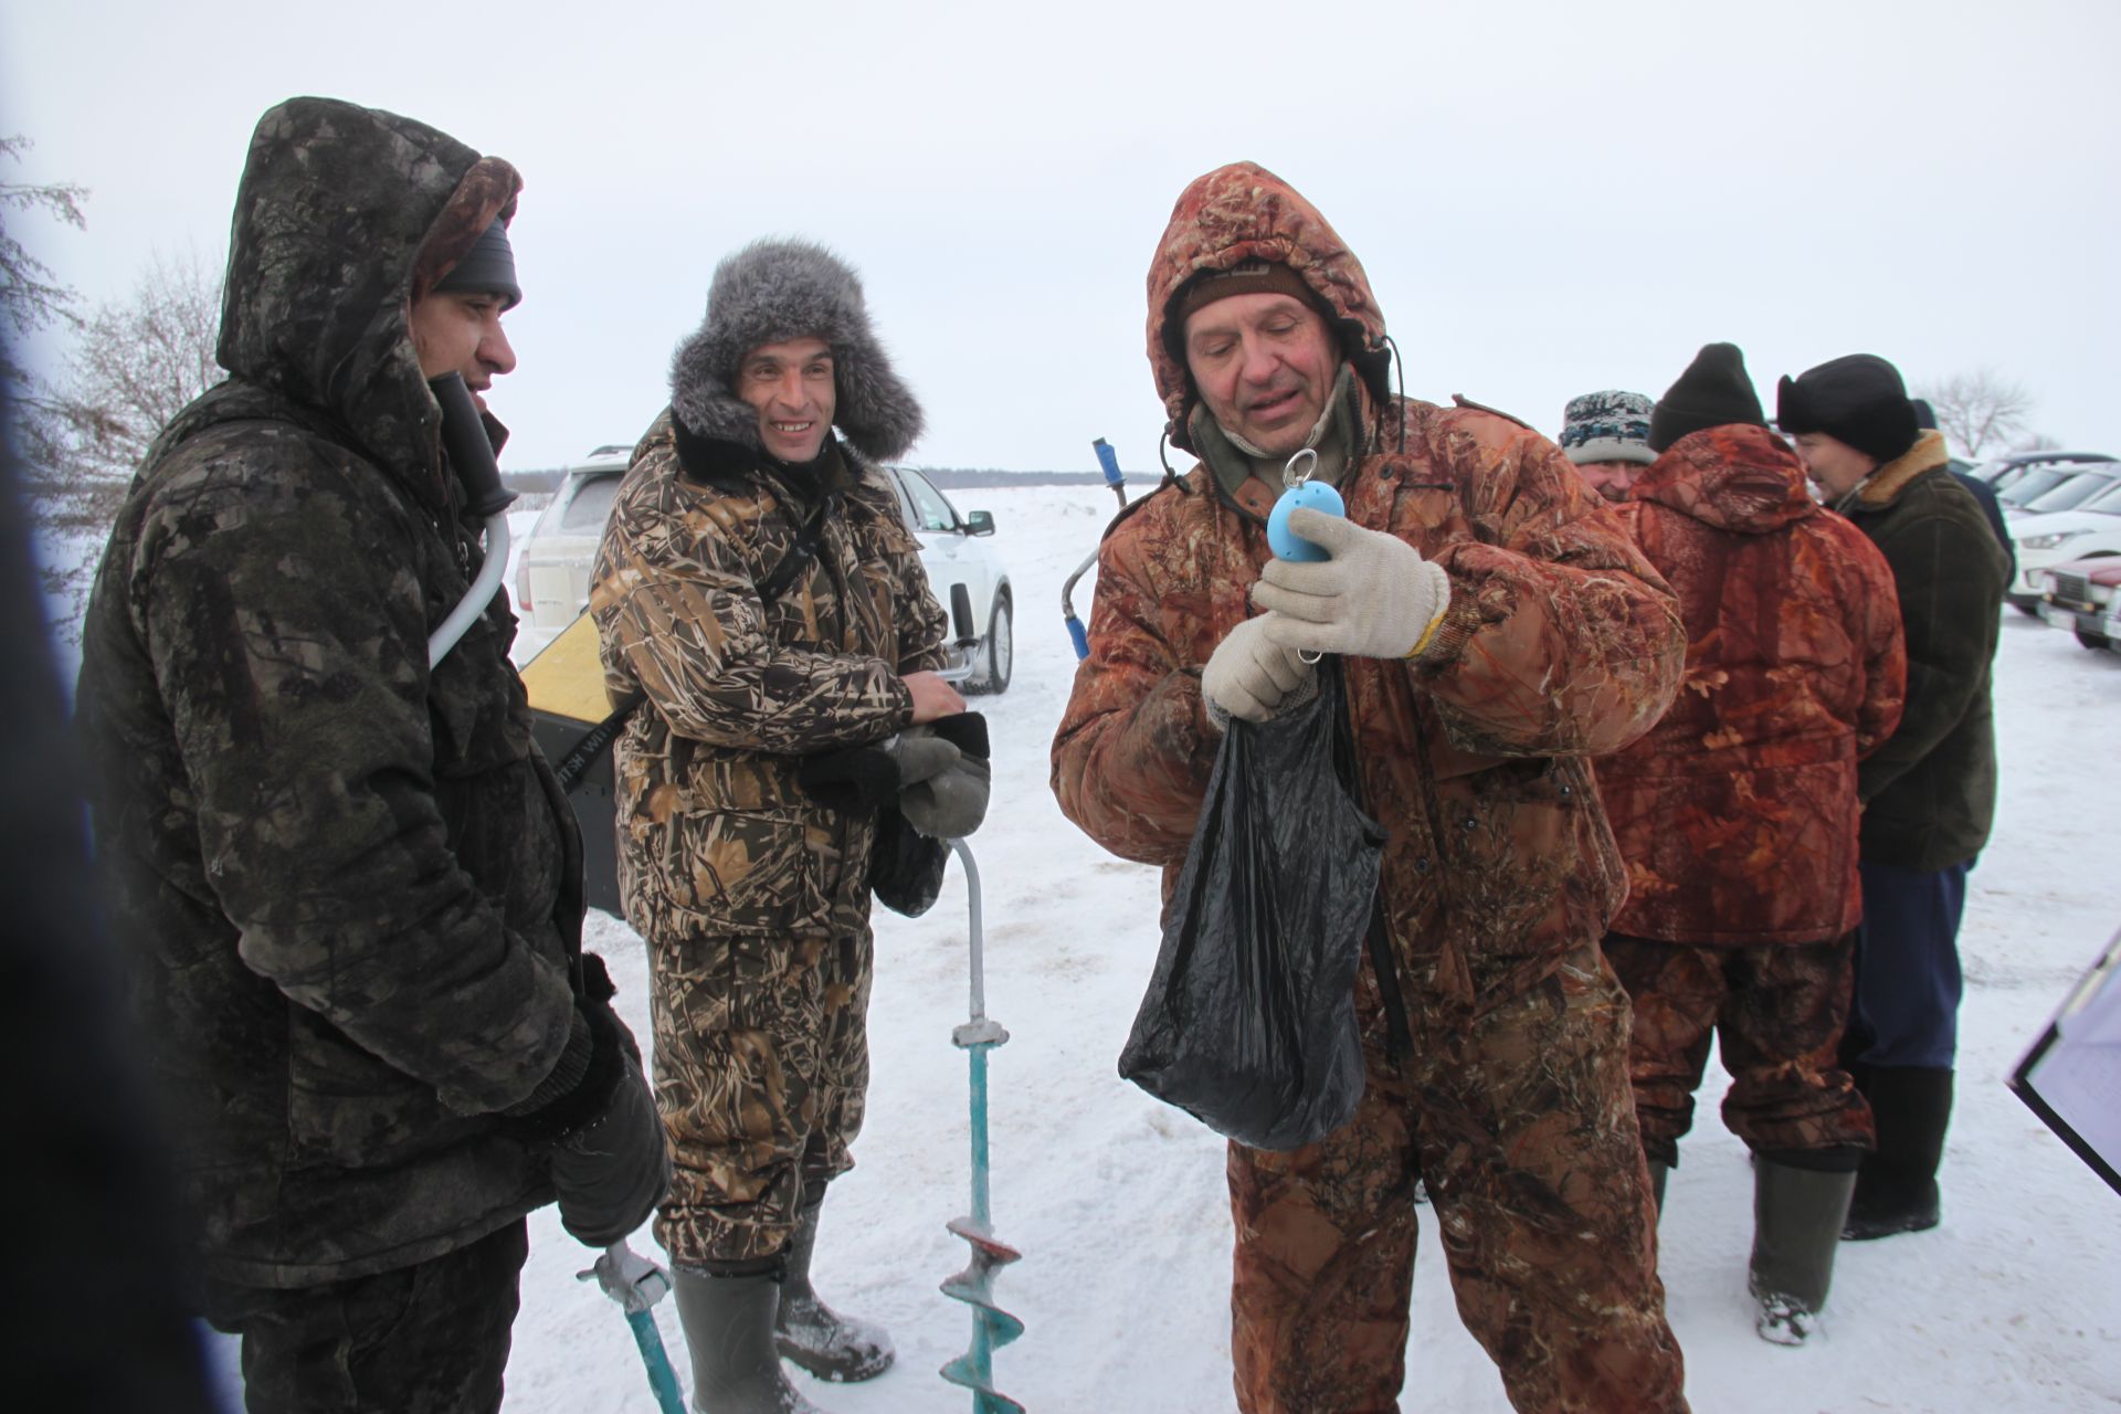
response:
<path fill-rule="evenodd" d="M 91 189 L 87 231 L 11 227 L 104 301 L 155 252 L 221 263 L 282 98 L 507 157 L 515 469 L 632 441 L 764 233 L 861 269 L 929 413 L 910 460 L 1090 469 L 1107 437 L 1154 469 L 1150 252 L 1232 159 L 1362 257 L 1413 396 L 1553 435 L 1729 339 L 1769 413 L 1777 375 L 1875 352 L 1917 386 L 1992 367 L 2034 430 L 2121 454 L 2110 0 L 1016 8 L 11 0 L 0 131 L 36 151 L 0 180 Z"/>

